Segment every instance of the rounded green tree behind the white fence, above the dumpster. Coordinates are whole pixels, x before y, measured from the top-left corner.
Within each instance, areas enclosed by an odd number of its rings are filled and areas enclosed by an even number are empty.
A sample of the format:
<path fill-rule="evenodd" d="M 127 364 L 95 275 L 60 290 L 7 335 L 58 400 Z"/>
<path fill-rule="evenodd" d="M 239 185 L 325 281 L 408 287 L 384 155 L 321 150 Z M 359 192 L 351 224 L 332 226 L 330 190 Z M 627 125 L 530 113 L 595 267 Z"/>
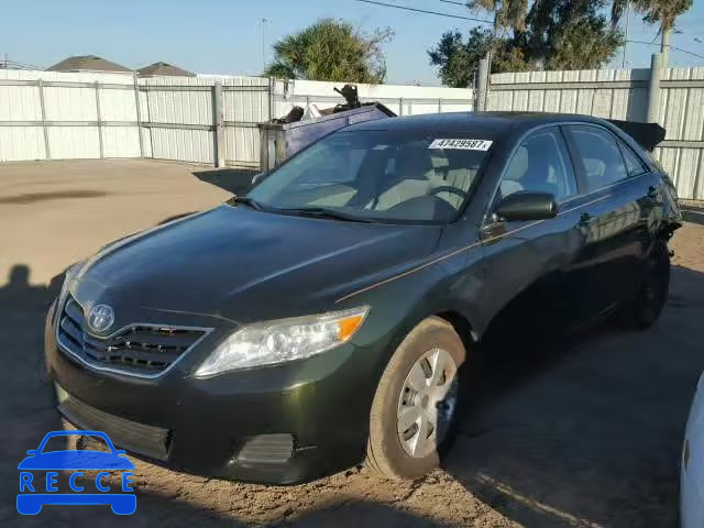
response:
<path fill-rule="evenodd" d="M 342 20 L 321 19 L 274 44 L 264 75 L 286 79 L 380 84 L 386 78 L 382 45 L 389 29 L 361 33 Z"/>

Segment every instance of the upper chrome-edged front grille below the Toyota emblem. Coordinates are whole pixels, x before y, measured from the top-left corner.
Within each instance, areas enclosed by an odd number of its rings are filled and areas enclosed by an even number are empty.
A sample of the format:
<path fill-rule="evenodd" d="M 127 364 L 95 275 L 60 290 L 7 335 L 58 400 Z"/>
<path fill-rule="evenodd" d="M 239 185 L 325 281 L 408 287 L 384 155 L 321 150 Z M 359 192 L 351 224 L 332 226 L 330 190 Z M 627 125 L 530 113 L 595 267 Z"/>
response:
<path fill-rule="evenodd" d="M 69 295 L 56 330 L 62 348 L 89 365 L 150 377 L 166 371 L 208 332 L 208 329 L 131 324 L 100 338 L 85 328 L 84 310 Z"/>

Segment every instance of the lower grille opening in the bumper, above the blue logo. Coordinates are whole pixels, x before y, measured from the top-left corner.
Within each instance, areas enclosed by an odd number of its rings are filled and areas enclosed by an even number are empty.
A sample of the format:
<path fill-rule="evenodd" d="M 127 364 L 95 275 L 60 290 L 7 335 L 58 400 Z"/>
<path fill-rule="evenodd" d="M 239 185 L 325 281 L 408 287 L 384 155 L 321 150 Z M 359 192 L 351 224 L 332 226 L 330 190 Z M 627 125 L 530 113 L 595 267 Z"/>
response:
<path fill-rule="evenodd" d="M 167 459 L 170 439 L 168 429 L 125 420 L 65 394 L 65 398 L 58 405 L 58 411 L 73 425 L 107 433 L 117 448 L 156 460 Z"/>

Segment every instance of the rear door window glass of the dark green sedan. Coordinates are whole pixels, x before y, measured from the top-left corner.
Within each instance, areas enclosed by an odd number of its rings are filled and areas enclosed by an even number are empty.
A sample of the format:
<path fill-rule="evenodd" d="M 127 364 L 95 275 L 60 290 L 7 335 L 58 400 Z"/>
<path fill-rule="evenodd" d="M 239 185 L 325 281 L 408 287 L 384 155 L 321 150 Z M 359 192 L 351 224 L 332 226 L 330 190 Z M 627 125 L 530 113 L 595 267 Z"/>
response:
<path fill-rule="evenodd" d="M 586 191 L 606 187 L 628 177 L 616 138 L 588 125 L 568 127 L 586 178 Z"/>

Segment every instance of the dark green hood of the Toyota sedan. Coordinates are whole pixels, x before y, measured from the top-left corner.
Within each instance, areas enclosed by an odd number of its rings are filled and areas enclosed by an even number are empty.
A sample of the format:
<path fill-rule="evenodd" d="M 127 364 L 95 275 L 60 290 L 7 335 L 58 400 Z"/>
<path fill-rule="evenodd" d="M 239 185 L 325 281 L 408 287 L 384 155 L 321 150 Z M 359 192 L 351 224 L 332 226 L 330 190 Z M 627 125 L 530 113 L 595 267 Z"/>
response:
<path fill-rule="evenodd" d="M 327 310 L 341 292 L 422 258 L 440 232 L 222 205 L 107 246 L 75 289 L 88 304 L 235 322 L 286 317 Z"/>

